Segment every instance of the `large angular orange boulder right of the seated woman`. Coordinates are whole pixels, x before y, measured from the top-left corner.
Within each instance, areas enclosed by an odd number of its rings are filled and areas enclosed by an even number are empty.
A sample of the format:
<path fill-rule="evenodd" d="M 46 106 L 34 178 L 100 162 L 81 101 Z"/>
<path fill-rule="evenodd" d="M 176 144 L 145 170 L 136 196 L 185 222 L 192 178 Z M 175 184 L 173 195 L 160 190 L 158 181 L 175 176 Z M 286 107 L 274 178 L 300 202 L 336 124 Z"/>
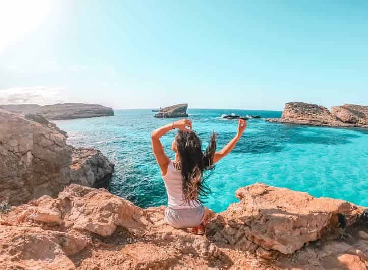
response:
<path fill-rule="evenodd" d="M 250 241 L 284 254 L 320 239 L 326 231 L 354 224 L 363 211 L 347 201 L 314 198 L 261 183 L 239 188 L 236 196 L 240 203 L 231 204 L 221 213 L 224 220 L 217 226 L 217 233 L 230 244 L 242 240 L 250 247 Z"/>

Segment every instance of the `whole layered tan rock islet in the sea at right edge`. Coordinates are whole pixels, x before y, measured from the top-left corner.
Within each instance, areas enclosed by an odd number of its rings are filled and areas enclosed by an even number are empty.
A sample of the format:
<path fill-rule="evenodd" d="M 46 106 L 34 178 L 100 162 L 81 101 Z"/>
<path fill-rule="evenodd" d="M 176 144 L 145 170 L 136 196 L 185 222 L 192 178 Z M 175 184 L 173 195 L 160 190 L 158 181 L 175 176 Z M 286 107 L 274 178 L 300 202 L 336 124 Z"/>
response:
<path fill-rule="evenodd" d="M 368 127 L 368 106 L 344 104 L 333 106 L 331 112 L 321 105 L 304 102 L 285 104 L 281 118 L 266 121 L 336 127 Z"/>

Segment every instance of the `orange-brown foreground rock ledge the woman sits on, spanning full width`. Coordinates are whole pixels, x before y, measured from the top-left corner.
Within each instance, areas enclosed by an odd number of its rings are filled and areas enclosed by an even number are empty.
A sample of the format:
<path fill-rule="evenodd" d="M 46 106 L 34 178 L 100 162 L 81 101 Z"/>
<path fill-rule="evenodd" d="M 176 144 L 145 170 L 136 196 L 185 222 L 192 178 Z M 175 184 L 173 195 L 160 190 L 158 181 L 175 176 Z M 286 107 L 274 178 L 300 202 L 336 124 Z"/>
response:
<path fill-rule="evenodd" d="M 0 213 L 2 269 L 367 269 L 364 209 L 262 183 L 207 210 L 205 235 L 174 229 L 165 207 L 76 184 Z M 42 247 L 42 248 L 40 248 Z"/>

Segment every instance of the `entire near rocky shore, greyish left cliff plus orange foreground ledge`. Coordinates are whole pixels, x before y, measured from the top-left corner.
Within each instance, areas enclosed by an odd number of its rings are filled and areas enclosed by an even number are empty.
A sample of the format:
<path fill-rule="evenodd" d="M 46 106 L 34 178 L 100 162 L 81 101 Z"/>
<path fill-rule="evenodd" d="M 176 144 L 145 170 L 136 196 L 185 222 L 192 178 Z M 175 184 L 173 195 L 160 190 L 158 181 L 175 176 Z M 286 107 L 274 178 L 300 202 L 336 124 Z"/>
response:
<path fill-rule="evenodd" d="M 224 212 L 207 209 L 194 235 L 169 226 L 165 206 L 94 188 L 113 173 L 42 115 L 0 109 L 0 268 L 367 270 L 364 207 L 256 183 Z"/>

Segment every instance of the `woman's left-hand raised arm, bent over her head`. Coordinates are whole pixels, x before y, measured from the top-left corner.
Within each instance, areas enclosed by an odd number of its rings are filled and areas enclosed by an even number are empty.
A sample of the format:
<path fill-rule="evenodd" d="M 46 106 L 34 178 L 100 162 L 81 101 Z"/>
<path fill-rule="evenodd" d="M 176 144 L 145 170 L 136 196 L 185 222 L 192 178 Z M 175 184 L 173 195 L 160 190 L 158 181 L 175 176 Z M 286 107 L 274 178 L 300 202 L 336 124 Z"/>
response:
<path fill-rule="evenodd" d="M 165 151 L 162 147 L 160 138 L 168 131 L 179 128 L 190 132 L 192 128 L 192 121 L 188 119 L 182 119 L 164 126 L 161 126 L 151 133 L 151 144 L 153 154 L 155 155 L 156 161 L 161 168 L 161 174 L 165 175 L 167 172 L 167 166 L 170 163 L 170 159 L 166 156 Z M 189 129 L 190 128 L 190 129 Z"/>

